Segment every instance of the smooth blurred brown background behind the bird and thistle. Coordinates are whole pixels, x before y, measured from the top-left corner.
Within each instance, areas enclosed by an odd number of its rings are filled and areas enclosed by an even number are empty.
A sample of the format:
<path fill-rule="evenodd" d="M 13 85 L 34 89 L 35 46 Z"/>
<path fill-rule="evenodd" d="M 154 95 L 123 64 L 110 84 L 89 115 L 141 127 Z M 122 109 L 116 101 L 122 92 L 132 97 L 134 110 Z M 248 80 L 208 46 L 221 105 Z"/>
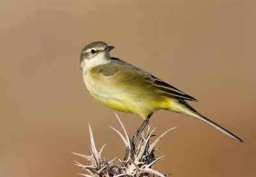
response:
<path fill-rule="evenodd" d="M 78 176 L 70 152 L 90 155 L 88 123 L 103 156 L 124 157 L 114 112 L 84 86 L 79 55 L 90 42 L 199 102 L 199 112 L 244 140 L 197 119 L 158 111 L 154 166 L 172 176 L 255 176 L 256 3 L 13 1 L 0 3 L 0 176 Z M 117 112 L 132 135 L 142 119 Z M 254 168 L 254 169 L 253 169 Z"/>

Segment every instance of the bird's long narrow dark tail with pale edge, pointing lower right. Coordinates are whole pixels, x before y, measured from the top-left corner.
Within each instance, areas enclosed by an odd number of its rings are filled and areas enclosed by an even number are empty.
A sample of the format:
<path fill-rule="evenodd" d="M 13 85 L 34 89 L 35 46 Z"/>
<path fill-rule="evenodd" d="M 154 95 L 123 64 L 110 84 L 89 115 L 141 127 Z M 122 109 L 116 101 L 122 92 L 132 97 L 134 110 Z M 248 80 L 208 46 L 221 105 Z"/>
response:
<path fill-rule="evenodd" d="M 191 116 L 193 118 L 198 118 L 201 119 L 202 121 L 205 121 L 206 123 L 209 123 L 209 125 L 211 125 L 212 127 L 220 130 L 221 132 L 223 132 L 224 134 L 236 139 L 237 141 L 243 142 L 242 139 L 240 139 L 239 137 L 237 137 L 236 135 L 232 134 L 231 132 L 229 132 L 228 130 L 226 130 L 225 128 L 221 127 L 220 125 L 218 125 L 217 123 L 214 123 L 213 121 L 211 121 L 208 118 L 205 118 L 205 116 L 202 116 L 202 114 L 200 114 L 199 112 L 197 112 L 195 109 L 193 109 L 193 107 L 191 107 L 187 102 L 185 102 L 184 100 L 180 100 L 179 99 L 179 105 L 181 106 L 182 109 L 184 109 L 184 111 L 179 111 L 179 113 L 181 114 L 185 114 L 187 116 Z M 172 110 L 170 110 L 172 111 Z"/>

